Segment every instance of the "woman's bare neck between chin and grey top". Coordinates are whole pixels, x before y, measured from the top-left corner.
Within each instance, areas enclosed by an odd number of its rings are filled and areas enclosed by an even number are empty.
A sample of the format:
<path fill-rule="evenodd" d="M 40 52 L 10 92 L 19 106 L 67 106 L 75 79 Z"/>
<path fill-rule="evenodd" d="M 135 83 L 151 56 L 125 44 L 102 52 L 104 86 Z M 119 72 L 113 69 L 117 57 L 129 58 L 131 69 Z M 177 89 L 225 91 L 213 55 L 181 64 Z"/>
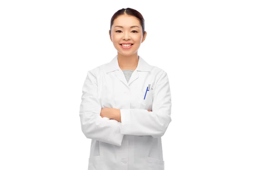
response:
<path fill-rule="evenodd" d="M 137 68 L 139 57 L 138 54 L 133 54 L 131 56 L 124 56 L 117 53 L 117 61 L 121 70 L 135 70 Z"/>

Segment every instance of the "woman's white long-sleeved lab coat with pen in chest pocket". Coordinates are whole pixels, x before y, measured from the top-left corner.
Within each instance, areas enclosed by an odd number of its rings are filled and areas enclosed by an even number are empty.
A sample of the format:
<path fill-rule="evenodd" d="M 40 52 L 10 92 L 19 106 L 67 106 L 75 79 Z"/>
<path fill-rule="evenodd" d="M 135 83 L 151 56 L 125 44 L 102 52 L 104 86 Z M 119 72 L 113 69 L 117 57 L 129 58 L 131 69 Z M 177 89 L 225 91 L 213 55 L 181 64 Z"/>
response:
<path fill-rule="evenodd" d="M 81 130 L 92 139 L 88 170 L 164 170 L 161 136 L 172 105 L 168 76 L 139 56 L 127 82 L 117 57 L 88 71 L 82 87 Z M 102 118 L 102 108 L 120 109 L 121 122 Z"/>

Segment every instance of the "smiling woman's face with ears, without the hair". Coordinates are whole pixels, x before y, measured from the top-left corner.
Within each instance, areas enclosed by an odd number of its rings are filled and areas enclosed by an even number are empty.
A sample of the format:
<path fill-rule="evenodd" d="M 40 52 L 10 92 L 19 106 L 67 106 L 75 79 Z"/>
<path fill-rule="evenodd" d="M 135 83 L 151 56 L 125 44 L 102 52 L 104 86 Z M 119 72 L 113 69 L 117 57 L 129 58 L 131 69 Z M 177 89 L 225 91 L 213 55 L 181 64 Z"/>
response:
<path fill-rule="evenodd" d="M 114 20 L 111 27 L 111 34 L 109 33 L 109 35 L 114 47 L 120 54 L 131 56 L 137 53 L 140 44 L 145 40 L 146 31 L 143 37 L 142 26 L 136 17 L 131 15 L 120 15 Z M 122 43 L 132 45 L 123 46 L 121 45 Z"/>

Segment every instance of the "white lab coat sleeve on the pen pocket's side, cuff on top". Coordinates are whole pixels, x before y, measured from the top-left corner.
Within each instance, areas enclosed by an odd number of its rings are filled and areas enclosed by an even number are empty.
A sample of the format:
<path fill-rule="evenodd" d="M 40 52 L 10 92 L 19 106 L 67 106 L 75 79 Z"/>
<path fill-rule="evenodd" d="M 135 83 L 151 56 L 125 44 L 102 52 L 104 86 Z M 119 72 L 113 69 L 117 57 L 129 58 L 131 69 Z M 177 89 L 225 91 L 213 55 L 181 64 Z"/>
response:
<path fill-rule="evenodd" d="M 121 133 L 125 135 L 161 137 L 171 119 L 171 91 L 168 75 L 160 75 L 154 89 L 152 112 L 145 109 L 120 109 Z"/>

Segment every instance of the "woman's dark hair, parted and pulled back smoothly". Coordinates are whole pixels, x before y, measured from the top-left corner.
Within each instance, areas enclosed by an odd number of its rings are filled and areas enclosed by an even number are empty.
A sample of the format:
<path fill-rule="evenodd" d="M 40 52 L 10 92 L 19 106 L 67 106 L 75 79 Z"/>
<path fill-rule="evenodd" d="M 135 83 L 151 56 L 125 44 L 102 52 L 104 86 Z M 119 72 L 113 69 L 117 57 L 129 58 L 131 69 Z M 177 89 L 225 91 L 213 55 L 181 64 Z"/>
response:
<path fill-rule="evenodd" d="M 109 30 L 110 33 L 111 33 L 111 27 L 114 23 L 114 20 L 123 14 L 134 16 L 138 20 L 140 20 L 140 25 L 142 26 L 142 32 L 143 32 L 143 36 L 144 36 L 145 35 L 145 20 L 139 11 L 132 9 L 132 8 L 122 8 L 122 9 L 119 9 L 118 11 L 116 11 L 115 14 L 113 14 L 113 16 L 111 18 L 111 22 L 110 22 L 110 30 Z"/>

